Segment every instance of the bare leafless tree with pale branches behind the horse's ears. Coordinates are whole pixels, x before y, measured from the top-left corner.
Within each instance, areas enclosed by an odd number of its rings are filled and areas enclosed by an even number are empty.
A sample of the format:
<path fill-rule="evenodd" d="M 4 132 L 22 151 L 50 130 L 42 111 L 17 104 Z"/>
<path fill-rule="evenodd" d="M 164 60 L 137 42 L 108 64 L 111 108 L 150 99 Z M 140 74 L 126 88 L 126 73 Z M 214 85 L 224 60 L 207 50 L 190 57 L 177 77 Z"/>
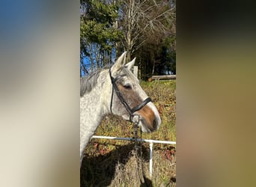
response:
<path fill-rule="evenodd" d="M 175 6 L 170 0 L 125 0 L 121 3 L 119 28 L 127 60 L 152 34 L 168 35 L 174 25 Z"/>

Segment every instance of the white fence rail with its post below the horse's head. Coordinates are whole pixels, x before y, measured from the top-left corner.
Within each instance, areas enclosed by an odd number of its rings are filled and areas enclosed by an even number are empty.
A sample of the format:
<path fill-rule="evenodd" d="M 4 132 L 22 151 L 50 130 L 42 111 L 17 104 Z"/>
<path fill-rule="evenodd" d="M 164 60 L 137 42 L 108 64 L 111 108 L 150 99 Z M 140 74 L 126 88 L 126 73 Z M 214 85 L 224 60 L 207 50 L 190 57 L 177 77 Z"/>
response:
<path fill-rule="evenodd" d="M 134 141 L 133 138 L 120 138 L 120 137 L 115 137 L 115 136 L 94 135 L 92 138 Z M 148 142 L 150 144 L 150 168 L 149 168 L 150 169 L 150 177 L 152 177 L 152 166 L 153 166 L 153 143 L 157 143 L 157 144 L 175 144 L 176 145 L 176 141 L 157 141 L 157 140 L 148 140 L 148 139 L 137 139 L 137 141 Z"/>

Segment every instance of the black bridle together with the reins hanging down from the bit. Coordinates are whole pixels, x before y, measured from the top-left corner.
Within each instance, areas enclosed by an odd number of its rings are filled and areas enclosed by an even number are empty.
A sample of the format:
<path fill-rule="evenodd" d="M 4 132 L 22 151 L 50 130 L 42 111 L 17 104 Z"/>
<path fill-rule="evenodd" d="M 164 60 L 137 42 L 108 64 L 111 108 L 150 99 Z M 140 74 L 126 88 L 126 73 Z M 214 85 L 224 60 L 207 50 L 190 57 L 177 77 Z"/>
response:
<path fill-rule="evenodd" d="M 122 95 L 121 91 L 119 91 L 118 89 L 118 85 L 116 85 L 115 82 L 117 82 L 118 79 L 121 79 L 121 77 L 125 76 L 125 75 L 120 75 L 117 76 L 116 78 L 112 77 L 111 74 L 111 67 L 109 68 L 109 76 L 112 82 L 112 96 L 111 96 L 111 102 L 110 102 L 110 111 L 112 113 L 112 102 L 113 102 L 113 95 L 114 95 L 114 90 L 115 93 L 117 94 L 119 100 L 122 102 L 122 104 L 124 105 L 124 107 L 127 109 L 128 113 L 129 113 L 129 121 L 134 123 L 134 141 L 135 141 L 135 157 L 137 160 L 137 173 L 138 173 L 138 177 L 139 177 L 139 159 L 138 159 L 138 123 L 141 120 L 141 116 L 138 114 L 133 114 L 135 111 L 139 111 L 141 108 L 144 107 L 144 105 L 147 105 L 147 102 L 150 102 L 151 99 L 150 97 L 147 97 L 147 99 L 144 99 L 143 102 L 141 102 L 141 104 L 137 105 L 134 108 L 130 108 L 129 105 L 127 104 L 127 102 L 124 99 L 124 96 Z M 141 133 L 141 139 L 142 139 L 142 133 Z M 142 156 L 142 145 L 140 143 L 140 151 L 141 151 L 141 156 Z M 144 178 L 144 184 L 146 186 L 149 186 L 147 184 L 147 178 L 144 176 L 144 168 L 142 166 L 142 162 L 141 162 L 141 169 L 142 169 L 142 174 L 143 174 L 143 178 Z M 143 184 L 141 177 L 139 177 L 139 180 L 141 181 L 141 184 Z"/>

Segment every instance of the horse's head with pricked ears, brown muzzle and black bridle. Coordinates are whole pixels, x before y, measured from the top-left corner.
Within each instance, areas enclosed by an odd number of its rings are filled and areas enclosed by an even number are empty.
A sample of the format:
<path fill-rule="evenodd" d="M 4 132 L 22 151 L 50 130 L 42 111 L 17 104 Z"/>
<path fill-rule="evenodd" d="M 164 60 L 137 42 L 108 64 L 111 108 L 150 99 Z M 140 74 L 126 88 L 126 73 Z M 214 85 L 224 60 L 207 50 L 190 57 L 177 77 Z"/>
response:
<path fill-rule="evenodd" d="M 112 82 L 110 111 L 125 120 L 132 121 L 132 117 L 138 116 L 138 126 L 141 126 L 142 131 L 154 132 L 161 124 L 159 112 L 131 72 L 135 58 L 125 64 L 125 56 L 126 52 L 109 69 Z"/>

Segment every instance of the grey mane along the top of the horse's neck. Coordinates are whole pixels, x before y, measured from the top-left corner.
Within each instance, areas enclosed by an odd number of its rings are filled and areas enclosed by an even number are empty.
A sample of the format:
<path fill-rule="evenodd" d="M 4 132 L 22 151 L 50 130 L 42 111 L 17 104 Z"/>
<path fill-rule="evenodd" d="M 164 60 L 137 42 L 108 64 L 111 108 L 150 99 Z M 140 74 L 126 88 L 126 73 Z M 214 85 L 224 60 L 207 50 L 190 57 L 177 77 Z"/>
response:
<path fill-rule="evenodd" d="M 98 78 L 103 69 L 96 70 L 88 76 L 80 78 L 80 97 L 85 93 L 90 93 L 91 90 L 97 85 Z"/>

